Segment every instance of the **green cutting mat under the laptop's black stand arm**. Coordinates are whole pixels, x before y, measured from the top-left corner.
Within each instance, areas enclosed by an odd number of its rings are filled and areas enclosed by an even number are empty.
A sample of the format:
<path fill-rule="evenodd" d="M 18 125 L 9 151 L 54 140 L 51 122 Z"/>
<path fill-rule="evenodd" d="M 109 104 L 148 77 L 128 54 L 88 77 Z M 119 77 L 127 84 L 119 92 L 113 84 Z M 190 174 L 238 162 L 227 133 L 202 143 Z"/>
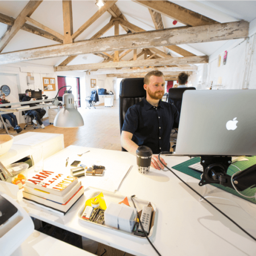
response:
<path fill-rule="evenodd" d="M 232 163 L 232 164 L 234 166 L 237 166 L 238 168 L 240 168 L 240 170 L 245 170 L 246 168 L 256 164 L 256 156 L 251 156 L 251 157 L 246 157 L 246 158 L 249 159 L 249 161 L 240 161 L 240 162 L 235 162 L 235 163 Z M 190 159 L 186 162 L 183 162 L 181 164 L 177 164 L 177 166 L 174 166 L 172 168 L 174 168 L 177 171 L 183 172 L 184 174 L 195 177 L 198 180 L 201 180 L 201 172 L 195 171 L 191 168 L 188 168 L 188 166 L 191 166 L 192 164 L 199 163 L 199 162 L 200 162 L 200 158 L 192 158 L 192 159 Z M 238 169 L 234 166 L 229 166 L 228 172 L 227 172 L 228 175 L 232 176 L 235 172 L 238 171 Z M 250 201 L 251 203 L 256 204 L 255 197 L 254 198 L 246 198 L 246 197 L 240 196 L 232 188 L 224 187 L 224 186 L 219 185 L 219 184 L 211 184 L 211 185 L 213 185 L 217 188 L 220 188 L 222 190 L 225 190 L 226 192 L 232 193 L 233 195 L 239 196 L 242 199 Z M 242 195 L 245 195 L 245 196 L 254 196 L 255 193 L 256 193 L 256 188 L 252 188 L 252 189 L 247 188 L 244 191 L 242 191 L 241 193 L 242 193 Z"/>

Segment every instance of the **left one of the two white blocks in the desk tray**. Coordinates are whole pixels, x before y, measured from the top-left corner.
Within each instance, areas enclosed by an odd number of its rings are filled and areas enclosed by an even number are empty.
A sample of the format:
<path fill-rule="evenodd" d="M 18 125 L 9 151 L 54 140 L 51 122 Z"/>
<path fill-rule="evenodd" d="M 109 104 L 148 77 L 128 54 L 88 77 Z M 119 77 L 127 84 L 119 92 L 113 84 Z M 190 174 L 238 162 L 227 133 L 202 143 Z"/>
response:
<path fill-rule="evenodd" d="M 104 221 L 106 226 L 118 229 L 118 214 L 122 209 L 121 204 L 110 203 L 104 212 Z"/>

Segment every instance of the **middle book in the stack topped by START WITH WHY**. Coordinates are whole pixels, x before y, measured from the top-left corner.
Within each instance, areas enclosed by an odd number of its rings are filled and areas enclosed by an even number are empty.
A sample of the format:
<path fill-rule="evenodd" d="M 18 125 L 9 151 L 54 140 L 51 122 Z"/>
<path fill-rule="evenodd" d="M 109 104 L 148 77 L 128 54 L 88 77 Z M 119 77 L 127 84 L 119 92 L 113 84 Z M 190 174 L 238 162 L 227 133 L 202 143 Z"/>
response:
<path fill-rule="evenodd" d="M 54 195 L 52 193 L 40 190 L 38 188 L 30 188 L 30 187 L 27 187 L 27 186 L 24 186 L 24 192 L 30 193 L 30 194 L 35 195 L 35 196 L 43 197 L 45 199 L 55 201 L 56 203 L 65 204 L 80 187 L 81 187 L 81 181 L 79 183 L 77 183 L 75 185 L 75 187 L 73 187 L 71 189 L 71 191 L 66 193 L 64 196 L 57 196 L 57 195 Z"/>

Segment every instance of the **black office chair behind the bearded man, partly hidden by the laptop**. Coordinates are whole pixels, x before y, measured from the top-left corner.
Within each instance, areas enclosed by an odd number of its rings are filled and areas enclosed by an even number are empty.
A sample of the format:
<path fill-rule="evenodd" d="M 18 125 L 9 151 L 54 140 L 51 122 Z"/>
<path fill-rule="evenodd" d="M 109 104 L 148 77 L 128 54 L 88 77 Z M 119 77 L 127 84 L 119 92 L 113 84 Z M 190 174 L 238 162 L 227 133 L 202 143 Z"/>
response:
<path fill-rule="evenodd" d="M 181 110 L 181 104 L 182 104 L 182 98 L 183 98 L 183 93 L 185 92 L 185 90 L 195 90 L 195 87 L 181 87 L 181 88 L 170 88 L 169 92 L 168 92 L 168 102 L 170 104 L 173 104 L 174 106 L 176 106 L 178 112 L 180 113 Z M 172 148 L 176 147 L 176 141 L 177 141 L 177 129 L 179 127 L 173 127 L 173 132 L 171 133 L 171 138 L 170 141 L 172 143 L 175 143 Z"/>

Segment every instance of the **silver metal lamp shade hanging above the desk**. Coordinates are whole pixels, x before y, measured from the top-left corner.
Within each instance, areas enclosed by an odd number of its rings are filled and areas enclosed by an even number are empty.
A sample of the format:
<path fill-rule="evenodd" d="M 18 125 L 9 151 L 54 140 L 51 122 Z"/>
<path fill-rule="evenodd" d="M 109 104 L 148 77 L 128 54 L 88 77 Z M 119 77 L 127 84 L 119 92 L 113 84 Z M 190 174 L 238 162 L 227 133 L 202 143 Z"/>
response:
<path fill-rule="evenodd" d="M 63 109 L 61 109 L 53 122 L 56 127 L 80 127 L 84 125 L 82 115 L 75 108 L 74 96 L 71 93 L 63 95 Z"/>

